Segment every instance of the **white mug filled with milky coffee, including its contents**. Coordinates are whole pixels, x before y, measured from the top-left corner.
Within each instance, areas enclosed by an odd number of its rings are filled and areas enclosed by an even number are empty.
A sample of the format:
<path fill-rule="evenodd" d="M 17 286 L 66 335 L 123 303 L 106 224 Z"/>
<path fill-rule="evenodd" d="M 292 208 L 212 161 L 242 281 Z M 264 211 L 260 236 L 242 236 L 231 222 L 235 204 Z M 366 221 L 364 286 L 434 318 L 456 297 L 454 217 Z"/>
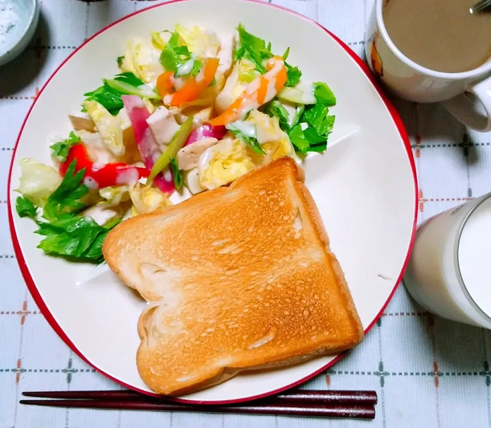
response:
<path fill-rule="evenodd" d="M 474 2 L 375 0 L 365 54 L 375 76 L 400 98 L 442 102 L 463 124 L 490 131 L 491 12 L 472 14 Z"/>

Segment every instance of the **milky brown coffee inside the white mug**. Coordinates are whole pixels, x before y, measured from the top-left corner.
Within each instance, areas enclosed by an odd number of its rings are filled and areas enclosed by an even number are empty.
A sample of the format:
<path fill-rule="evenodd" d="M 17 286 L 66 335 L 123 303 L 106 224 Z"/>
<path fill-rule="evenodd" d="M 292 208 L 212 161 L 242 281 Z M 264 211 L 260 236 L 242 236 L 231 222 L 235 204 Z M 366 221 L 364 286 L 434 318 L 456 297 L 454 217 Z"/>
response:
<path fill-rule="evenodd" d="M 409 59 L 430 70 L 460 73 L 491 58 L 491 13 L 472 13 L 476 0 L 387 0 L 389 37 Z"/>

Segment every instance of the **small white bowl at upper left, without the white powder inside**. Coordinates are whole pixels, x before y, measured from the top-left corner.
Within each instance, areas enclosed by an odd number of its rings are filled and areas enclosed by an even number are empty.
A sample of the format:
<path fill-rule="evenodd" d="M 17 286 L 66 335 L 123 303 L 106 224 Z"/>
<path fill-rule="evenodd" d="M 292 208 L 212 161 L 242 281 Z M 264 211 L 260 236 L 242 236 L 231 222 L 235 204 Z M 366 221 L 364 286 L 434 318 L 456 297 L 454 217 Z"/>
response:
<path fill-rule="evenodd" d="M 5 40 L 0 42 L 0 65 L 12 61 L 26 49 L 39 20 L 38 0 L 15 0 L 12 3 L 19 19 L 7 32 Z"/>

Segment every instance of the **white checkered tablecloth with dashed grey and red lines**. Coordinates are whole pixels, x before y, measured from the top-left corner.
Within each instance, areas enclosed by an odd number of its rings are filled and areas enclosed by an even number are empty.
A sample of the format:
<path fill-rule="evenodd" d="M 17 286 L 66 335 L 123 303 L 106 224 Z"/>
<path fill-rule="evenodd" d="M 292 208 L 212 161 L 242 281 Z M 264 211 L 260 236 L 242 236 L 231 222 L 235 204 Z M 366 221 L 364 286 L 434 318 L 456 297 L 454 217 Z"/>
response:
<path fill-rule="evenodd" d="M 307 15 L 364 55 L 373 0 L 273 0 Z M 32 300 L 7 222 L 7 174 L 17 132 L 36 91 L 85 38 L 154 2 L 40 0 L 29 48 L 0 67 L 0 428 L 70 427 L 469 427 L 491 428 L 491 333 L 422 311 L 400 286 L 365 341 L 309 388 L 370 389 L 372 422 L 135 411 L 65 410 L 18 404 L 22 391 L 114 389 L 58 338 Z M 491 190 L 491 134 L 468 131 L 439 105 L 394 100 L 419 178 L 419 222 Z"/>

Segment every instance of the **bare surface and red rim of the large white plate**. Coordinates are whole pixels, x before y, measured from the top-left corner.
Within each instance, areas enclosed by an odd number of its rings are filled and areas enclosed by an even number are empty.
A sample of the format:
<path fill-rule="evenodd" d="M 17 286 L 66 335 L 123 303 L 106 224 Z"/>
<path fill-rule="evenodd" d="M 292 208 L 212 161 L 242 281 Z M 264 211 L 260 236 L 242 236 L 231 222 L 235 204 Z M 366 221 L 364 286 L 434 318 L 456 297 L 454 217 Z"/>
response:
<path fill-rule="evenodd" d="M 15 213 L 18 161 L 49 163 L 42 142 L 68 133 L 68 112 L 83 94 L 117 73 L 116 57 L 129 36 L 171 29 L 175 22 L 220 32 L 245 28 L 271 40 L 275 52 L 291 48 L 289 62 L 304 76 L 325 81 L 338 99 L 334 132 L 324 154 L 307 157 L 306 183 L 319 207 L 365 330 L 380 316 L 400 280 L 410 252 L 417 207 L 414 161 L 404 126 L 378 92 L 368 67 L 315 22 L 265 3 L 184 0 L 129 15 L 88 39 L 42 88 L 20 131 L 9 178 L 9 217 L 15 253 L 28 287 L 60 337 L 85 361 L 121 385 L 149 392 L 135 363 L 137 320 L 144 302 L 107 267 L 64 262 L 36 249 L 35 225 Z M 339 356 L 300 366 L 238 375 L 185 397 L 200 402 L 242 401 L 297 385 Z"/>

